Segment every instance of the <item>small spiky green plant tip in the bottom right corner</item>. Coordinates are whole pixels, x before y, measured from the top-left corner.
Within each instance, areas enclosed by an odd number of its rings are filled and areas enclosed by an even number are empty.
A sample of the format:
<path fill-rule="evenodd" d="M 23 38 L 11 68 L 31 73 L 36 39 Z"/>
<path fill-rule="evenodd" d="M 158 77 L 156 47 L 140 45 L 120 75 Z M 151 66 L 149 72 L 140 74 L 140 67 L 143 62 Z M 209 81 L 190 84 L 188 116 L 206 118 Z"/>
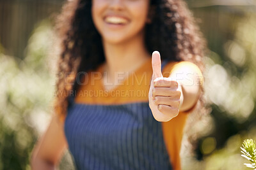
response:
<path fill-rule="evenodd" d="M 251 164 L 244 164 L 246 167 L 256 169 L 256 143 L 253 139 L 246 139 L 241 147 L 242 157 L 250 160 Z"/>

